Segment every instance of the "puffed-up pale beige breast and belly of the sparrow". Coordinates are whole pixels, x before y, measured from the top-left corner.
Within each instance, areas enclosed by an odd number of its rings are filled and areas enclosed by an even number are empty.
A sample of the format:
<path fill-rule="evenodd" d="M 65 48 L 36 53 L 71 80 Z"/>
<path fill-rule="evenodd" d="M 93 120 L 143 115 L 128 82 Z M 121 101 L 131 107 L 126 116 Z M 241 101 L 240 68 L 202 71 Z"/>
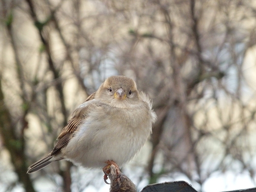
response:
<path fill-rule="evenodd" d="M 146 142 L 151 133 L 147 107 L 122 110 L 101 105 L 91 111 L 70 140 L 66 158 L 85 167 L 101 167 L 106 160 L 122 166 Z"/>

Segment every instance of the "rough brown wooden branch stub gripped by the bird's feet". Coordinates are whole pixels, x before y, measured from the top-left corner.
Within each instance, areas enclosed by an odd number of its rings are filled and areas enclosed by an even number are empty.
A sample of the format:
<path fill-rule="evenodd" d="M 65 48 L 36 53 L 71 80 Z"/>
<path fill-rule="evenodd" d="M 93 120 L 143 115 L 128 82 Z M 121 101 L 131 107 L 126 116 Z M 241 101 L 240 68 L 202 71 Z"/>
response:
<path fill-rule="evenodd" d="M 110 189 L 109 192 L 137 192 L 136 186 L 124 174 L 117 175 L 117 170 L 114 165 L 110 166 Z"/>

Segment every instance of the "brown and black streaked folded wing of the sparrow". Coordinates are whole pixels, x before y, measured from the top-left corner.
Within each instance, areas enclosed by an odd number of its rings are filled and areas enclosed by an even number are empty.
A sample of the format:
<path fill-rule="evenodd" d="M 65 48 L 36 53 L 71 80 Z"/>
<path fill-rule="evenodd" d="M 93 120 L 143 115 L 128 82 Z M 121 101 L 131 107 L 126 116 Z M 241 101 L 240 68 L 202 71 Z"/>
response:
<path fill-rule="evenodd" d="M 76 129 L 81 125 L 88 117 L 88 113 L 96 107 L 93 99 L 95 93 L 88 96 L 84 103 L 82 103 L 72 114 L 71 119 L 67 122 L 67 125 L 62 129 L 62 132 L 57 138 L 57 143 L 51 152 L 51 156 L 57 155 L 60 150 L 69 142 L 73 137 Z"/>

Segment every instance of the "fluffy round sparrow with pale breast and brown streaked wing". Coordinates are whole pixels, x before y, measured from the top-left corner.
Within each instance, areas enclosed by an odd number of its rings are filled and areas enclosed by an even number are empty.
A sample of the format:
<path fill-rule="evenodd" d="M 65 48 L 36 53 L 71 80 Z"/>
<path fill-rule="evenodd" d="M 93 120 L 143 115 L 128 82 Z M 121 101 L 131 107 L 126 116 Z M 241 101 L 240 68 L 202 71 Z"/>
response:
<path fill-rule="evenodd" d="M 27 173 L 69 160 L 86 168 L 103 167 L 106 182 L 110 165 L 118 168 L 131 160 L 152 133 L 156 119 L 151 100 L 131 78 L 111 76 L 74 110 L 52 152 Z"/>

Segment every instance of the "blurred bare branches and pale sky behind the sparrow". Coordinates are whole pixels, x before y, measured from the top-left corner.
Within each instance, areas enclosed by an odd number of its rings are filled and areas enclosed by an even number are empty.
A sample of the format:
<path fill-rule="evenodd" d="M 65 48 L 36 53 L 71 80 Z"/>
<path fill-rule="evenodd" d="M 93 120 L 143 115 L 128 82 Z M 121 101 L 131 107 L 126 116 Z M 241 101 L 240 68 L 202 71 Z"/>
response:
<path fill-rule="evenodd" d="M 108 191 L 67 161 L 26 172 L 118 74 L 158 115 L 122 169 L 138 190 L 256 187 L 255 0 L 0 0 L 0 192 Z"/>

